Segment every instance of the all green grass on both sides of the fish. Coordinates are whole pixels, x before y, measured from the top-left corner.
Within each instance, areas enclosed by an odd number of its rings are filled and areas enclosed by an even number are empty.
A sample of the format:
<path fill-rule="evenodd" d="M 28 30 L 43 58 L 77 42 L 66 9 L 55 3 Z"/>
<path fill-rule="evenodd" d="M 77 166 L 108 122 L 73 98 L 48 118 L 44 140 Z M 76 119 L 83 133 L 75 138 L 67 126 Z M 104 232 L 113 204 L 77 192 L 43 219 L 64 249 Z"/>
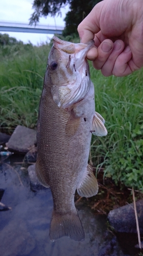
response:
<path fill-rule="evenodd" d="M 0 129 L 16 125 L 35 128 L 50 47 L 13 46 L 0 49 Z M 143 71 L 127 77 L 104 77 L 91 63 L 96 111 L 105 119 L 106 137 L 92 137 L 91 160 L 104 176 L 143 190 Z"/>

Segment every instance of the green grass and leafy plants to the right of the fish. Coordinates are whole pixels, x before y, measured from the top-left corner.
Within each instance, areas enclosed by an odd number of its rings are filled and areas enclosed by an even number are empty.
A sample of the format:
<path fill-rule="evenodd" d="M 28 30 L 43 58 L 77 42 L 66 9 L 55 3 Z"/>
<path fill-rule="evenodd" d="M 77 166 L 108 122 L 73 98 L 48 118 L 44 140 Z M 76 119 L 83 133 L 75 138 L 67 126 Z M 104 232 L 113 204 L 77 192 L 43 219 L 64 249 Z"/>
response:
<path fill-rule="evenodd" d="M 143 191 L 142 70 L 119 77 L 103 77 L 91 67 L 96 111 L 105 119 L 106 137 L 93 137 L 92 161 L 116 184 Z"/>

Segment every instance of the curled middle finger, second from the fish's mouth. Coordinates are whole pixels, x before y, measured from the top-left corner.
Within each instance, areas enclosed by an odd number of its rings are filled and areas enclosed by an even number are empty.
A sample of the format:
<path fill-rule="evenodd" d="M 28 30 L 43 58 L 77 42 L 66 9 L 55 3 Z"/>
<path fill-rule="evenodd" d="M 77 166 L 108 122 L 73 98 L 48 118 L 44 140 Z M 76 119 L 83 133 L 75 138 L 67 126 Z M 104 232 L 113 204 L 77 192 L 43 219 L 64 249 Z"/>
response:
<path fill-rule="evenodd" d="M 93 61 L 95 69 L 101 69 L 113 50 L 113 42 L 105 39 L 98 47 L 98 57 Z"/>

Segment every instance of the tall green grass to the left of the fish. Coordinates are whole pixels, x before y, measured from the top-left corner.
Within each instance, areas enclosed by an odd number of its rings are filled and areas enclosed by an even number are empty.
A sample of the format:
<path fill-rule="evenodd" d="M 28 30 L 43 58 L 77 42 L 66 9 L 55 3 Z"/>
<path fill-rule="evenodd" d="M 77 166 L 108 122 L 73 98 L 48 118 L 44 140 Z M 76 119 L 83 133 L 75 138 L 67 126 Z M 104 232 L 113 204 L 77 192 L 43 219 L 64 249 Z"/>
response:
<path fill-rule="evenodd" d="M 49 46 L 16 51 L 0 63 L 1 128 L 35 127 Z"/>

